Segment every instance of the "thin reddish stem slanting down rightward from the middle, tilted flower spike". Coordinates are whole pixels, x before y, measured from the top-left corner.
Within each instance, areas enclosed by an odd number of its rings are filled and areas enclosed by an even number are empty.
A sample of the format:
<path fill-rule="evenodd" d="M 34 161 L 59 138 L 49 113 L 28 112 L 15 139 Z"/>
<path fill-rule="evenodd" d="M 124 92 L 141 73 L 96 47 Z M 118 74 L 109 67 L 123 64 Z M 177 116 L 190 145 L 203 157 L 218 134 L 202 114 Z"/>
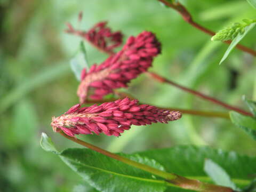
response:
<path fill-rule="evenodd" d="M 173 85 L 173 86 L 175 86 L 175 87 L 178 87 L 179 89 L 181 89 L 181 90 L 183 90 L 183 91 L 186 91 L 186 92 L 189 92 L 189 93 L 191 93 L 191 94 L 194 94 L 194 95 L 196 95 L 197 97 L 203 98 L 203 99 L 205 99 L 205 100 L 208 100 L 208 101 L 210 101 L 210 102 L 213 102 L 213 103 L 215 103 L 215 104 L 217 104 L 217 105 L 220 105 L 220 106 L 222 106 L 222 107 L 225 107 L 225 108 L 227 108 L 227 109 L 237 111 L 238 113 L 241 113 L 241 114 L 243 114 L 243 115 L 252 116 L 251 113 L 249 113 L 249 112 L 247 112 L 247 111 L 245 111 L 245 110 L 243 110 L 243 109 L 239 109 L 239 108 L 237 108 L 237 107 L 230 106 L 230 105 L 228 105 L 227 103 L 224 103 L 224 102 L 222 102 L 222 101 L 219 101 L 219 100 L 217 100 L 217 99 L 215 99 L 215 98 L 213 98 L 213 97 L 207 96 L 207 95 L 205 95 L 205 94 L 203 94 L 203 93 L 200 93 L 200 92 L 198 92 L 198 91 L 195 91 L 195 90 L 191 90 L 191 89 L 189 89 L 189 88 L 187 88 L 187 87 L 185 87 L 185 86 L 181 86 L 181 85 L 179 85 L 179 84 L 177 84 L 177 83 L 174 83 L 173 81 L 170 81 L 170 80 L 168 80 L 168 79 L 166 79 L 166 78 L 164 78 L 164 77 L 162 77 L 162 76 L 159 76 L 159 75 L 157 75 L 157 74 L 155 74 L 155 73 L 153 73 L 153 72 L 147 72 L 147 74 L 150 75 L 150 77 L 153 77 L 154 79 L 156 79 L 156 81 L 158 81 L 158 82 L 161 82 L 161 83 L 168 83 L 168 84 L 170 84 L 170 85 Z"/>

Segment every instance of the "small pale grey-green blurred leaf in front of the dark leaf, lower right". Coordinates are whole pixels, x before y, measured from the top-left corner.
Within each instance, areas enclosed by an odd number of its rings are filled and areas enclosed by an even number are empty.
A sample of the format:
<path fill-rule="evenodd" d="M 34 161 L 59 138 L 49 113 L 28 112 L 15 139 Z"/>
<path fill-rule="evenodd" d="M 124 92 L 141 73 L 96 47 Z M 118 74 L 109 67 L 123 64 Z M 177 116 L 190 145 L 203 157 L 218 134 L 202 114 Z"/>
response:
<path fill-rule="evenodd" d="M 231 181 L 228 173 L 211 159 L 205 159 L 204 171 L 217 185 L 237 190 L 235 183 Z"/>

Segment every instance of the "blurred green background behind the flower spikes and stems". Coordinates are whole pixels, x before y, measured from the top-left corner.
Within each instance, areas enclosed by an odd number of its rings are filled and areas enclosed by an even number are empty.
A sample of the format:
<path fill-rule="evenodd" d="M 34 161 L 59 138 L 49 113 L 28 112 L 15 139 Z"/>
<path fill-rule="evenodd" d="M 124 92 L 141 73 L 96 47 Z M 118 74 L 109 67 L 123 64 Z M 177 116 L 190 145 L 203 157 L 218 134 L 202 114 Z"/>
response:
<path fill-rule="evenodd" d="M 217 31 L 233 21 L 255 18 L 245 0 L 181 1 L 194 20 Z M 77 16 L 83 11 L 79 24 Z M 69 61 L 81 39 L 63 32 L 66 22 L 87 30 L 109 21 L 125 39 L 142 30 L 153 31 L 163 52 L 155 71 L 187 87 L 242 108 L 242 95 L 256 99 L 255 59 L 234 50 L 218 65 L 227 45 L 191 27 L 172 9 L 156 0 L 0 1 L 0 191 L 76 191 L 83 180 L 57 156 L 39 146 L 42 132 L 58 149 L 79 147 L 53 133 L 50 122 L 78 102 L 78 82 Z M 255 29 L 242 44 L 256 48 Z M 107 55 L 86 45 L 92 65 Z M 162 107 L 226 111 L 146 75 L 132 81 L 127 92 L 142 102 Z M 209 145 L 255 155 L 255 142 L 227 119 L 183 115 L 170 124 L 132 127 L 122 137 L 87 135 L 84 140 L 113 152 Z M 186 176 L 186 175 L 184 175 Z"/>

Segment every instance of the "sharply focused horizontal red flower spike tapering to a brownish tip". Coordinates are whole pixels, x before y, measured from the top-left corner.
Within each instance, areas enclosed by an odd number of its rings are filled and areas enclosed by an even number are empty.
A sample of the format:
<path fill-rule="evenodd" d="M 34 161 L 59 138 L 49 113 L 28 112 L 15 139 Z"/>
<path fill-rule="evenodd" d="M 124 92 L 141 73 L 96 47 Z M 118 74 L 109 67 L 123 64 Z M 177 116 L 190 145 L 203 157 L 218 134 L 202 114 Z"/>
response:
<path fill-rule="evenodd" d="M 128 106 L 128 107 L 127 107 Z M 100 106 L 83 107 L 75 105 L 67 113 L 53 117 L 54 132 L 62 130 L 67 135 L 105 133 L 120 136 L 131 125 L 167 123 L 181 118 L 179 111 L 158 109 L 155 106 L 139 105 L 137 100 L 128 98 L 102 103 Z"/>

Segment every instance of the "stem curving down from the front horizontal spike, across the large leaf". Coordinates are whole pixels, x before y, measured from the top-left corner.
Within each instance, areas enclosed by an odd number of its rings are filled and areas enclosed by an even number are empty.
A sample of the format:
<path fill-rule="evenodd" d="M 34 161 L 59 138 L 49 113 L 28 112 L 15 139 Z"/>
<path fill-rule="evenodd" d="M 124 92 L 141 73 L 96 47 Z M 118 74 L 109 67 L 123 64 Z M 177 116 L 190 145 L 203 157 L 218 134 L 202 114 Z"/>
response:
<path fill-rule="evenodd" d="M 202 191 L 202 192 L 216 192 L 216 191 L 235 192 L 233 189 L 228 188 L 228 187 L 212 185 L 210 183 L 201 182 L 199 180 L 194 180 L 194 179 L 188 179 L 188 178 L 185 178 L 185 177 L 181 177 L 180 175 L 177 175 L 177 174 L 174 174 L 174 173 L 167 173 L 165 171 L 157 170 L 154 167 L 150 167 L 148 165 L 144 165 L 144 164 L 132 161 L 129 158 L 125 158 L 125 157 L 110 153 L 107 150 L 104 150 L 104 149 L 101 149 L 97 146 L 91 145 L 90 143 L 87 143 L 87 142 L 82 141 L 80 139 L 70 137 L 62 131 L 60 131 L 59 133 L 63 137 L 65 137 L 65 138 L 67 138 L 71 141 L 74 141 L 74 142 L 78 143 L 79 145 L 82 145 L 84 147 L 87 147 L 89 149 L 97 151 L 98 153 L 106 155 L 110 158 L 114 158 L 117 161 L 123 162 L 127 165 L 131 165 L 133 167 L 137 167 L 138 169 L 141 169 L 141 170 L 147 171 L 149 173 L 155 174 L 159 177 L 164 178 L 166 182 L 172 183 L 173 185 L 176 185 L 180 188 L 191 189 L 191 190 Z"/>

